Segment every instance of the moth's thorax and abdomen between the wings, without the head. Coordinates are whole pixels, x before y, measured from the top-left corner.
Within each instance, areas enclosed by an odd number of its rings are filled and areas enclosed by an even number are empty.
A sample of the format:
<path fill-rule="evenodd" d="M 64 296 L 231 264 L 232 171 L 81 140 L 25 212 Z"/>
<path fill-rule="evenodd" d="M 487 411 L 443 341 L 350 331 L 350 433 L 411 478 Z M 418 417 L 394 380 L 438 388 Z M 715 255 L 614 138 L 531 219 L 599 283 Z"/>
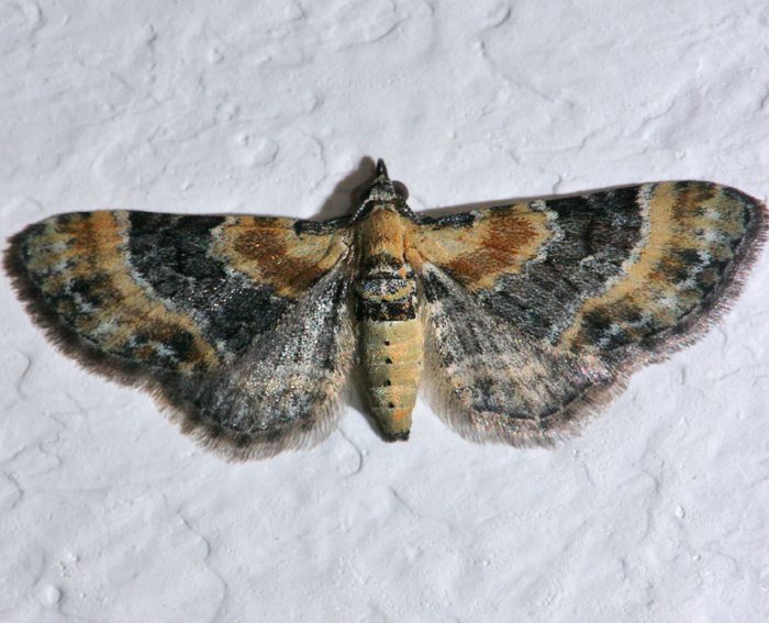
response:
<path fill-rule="evenodd" d="M 414 270 L 404 257 L 405 221 L 376 205 L 358 224 L 356 315 L 366 393 L 388 441 L 405 441 L 423 367 L 423 327 Z"/>

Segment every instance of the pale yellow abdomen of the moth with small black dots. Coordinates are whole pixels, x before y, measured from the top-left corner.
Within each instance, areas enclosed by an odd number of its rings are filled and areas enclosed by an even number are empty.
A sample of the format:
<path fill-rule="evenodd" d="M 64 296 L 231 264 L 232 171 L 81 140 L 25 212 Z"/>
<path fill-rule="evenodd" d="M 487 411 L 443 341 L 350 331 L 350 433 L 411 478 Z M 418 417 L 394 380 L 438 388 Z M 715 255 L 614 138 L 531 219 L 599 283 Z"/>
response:
<path fill-rule="evenodd" d="M 419 318 L 360 323 L 369 405 L 384 438 L 404 441 L 422 376 L 423 330 Z"/>

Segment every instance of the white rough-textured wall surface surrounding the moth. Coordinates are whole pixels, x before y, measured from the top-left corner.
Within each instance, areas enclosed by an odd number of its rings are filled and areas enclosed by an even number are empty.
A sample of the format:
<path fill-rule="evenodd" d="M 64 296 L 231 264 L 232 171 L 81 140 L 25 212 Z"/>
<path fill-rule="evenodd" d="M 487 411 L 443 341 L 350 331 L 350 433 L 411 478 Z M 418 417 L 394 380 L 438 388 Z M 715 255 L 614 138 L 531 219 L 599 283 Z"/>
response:
<path fill-rule="evenodd" d="M 0 234 L 62 211 L 336 215 L 651 179 L 769 192 L 766 0 L 0 2 Z M 341 187 L 337 187 L 337 185 Z M 749 623 L 769 612 L 769 262 L 556 450 L 420 402 L 387 445 L 204 454 L 0 282 L 0 619 Z M 359 404 L 356 399 L 354 404 Z"/>

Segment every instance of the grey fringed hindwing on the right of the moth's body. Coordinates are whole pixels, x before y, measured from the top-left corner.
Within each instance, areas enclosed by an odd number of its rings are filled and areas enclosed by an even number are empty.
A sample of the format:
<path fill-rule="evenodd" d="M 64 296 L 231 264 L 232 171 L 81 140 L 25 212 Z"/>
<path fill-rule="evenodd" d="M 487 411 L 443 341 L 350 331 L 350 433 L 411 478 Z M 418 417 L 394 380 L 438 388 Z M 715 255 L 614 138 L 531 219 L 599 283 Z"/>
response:
<path fill-rule="evenodd" d="M 462 436 L 543 443 L 600 404 L 613 381 L 600 358 L 562 353 L 490 313 L 432 264 L 421 271 L 426 363 L 439 413 Z"/>

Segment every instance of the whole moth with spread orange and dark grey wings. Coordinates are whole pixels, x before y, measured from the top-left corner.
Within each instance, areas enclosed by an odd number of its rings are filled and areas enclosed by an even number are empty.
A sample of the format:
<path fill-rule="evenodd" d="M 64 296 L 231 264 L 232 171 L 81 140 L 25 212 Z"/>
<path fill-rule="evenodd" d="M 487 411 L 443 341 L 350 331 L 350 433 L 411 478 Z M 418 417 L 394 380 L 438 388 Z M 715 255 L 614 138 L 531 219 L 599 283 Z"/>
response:
<path fill-rule="evenodd" d="M 379 160 L 346 218 L 59 214 L 5 268 L 65 353 L 245 460 L 325 437 L 356 361 L 388 441 L 409 437 L 423 368 L 469 440 L 565 437 L 699 337 L 766 236 L 758 200 L 703 181 L 430 218 Z"/>

